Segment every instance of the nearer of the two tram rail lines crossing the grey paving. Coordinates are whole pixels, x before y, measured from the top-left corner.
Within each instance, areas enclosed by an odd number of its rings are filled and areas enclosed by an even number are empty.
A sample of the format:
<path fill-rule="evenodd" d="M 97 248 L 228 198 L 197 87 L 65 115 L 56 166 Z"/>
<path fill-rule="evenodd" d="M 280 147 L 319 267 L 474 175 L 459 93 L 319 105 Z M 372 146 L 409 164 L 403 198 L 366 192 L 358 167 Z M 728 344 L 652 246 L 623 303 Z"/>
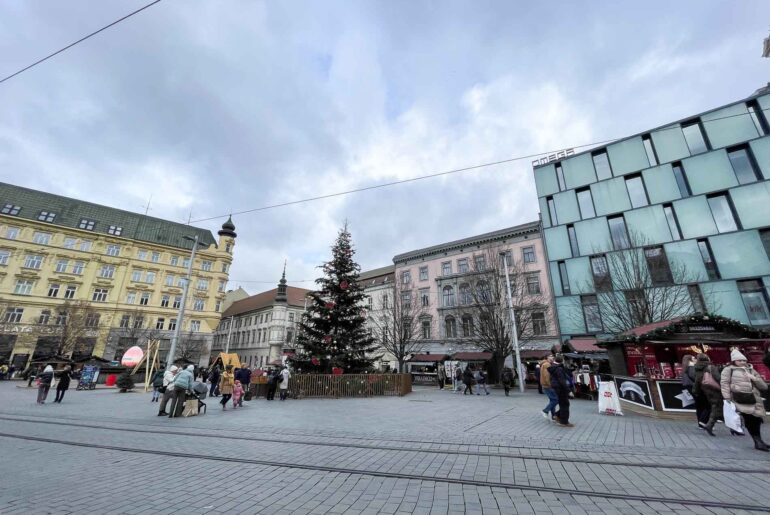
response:
<path fill-rule="evenodd" d="M 701 500 L 701 499 L 675 499 L 675 498 L 654 497 L 654 496 L 644 496 L 644 495 L 637 495 L 637 494 L 625 494 L 625 493 L 614 493 L 614 492 L 594 492 L 594 491 L 584 491 L 584 490 L 557 488 L 557 487 L 549 487 L 549 486 L 532 486 L 532 485 L 522 485 L 517 483 L 482 481 L 482 480 L 474 480 L 474 479 L 467 479 L 467 478 L 446 478 L 446 477 L 436 477 L 436 476 L 425 476 L 420 474 L 382 472 L 382 471 L 376 471 L 376 470 L 334 467 L 334 466 L 328 466 L 328 465 L 316 465 L 316 464 L 309 465 L 309 464 L 301 464 L 301 463 L 280 462 L 275 460 L 260 460 L 260 459 L 253 459 L 253 458 L 226 457 L 226 456 L 215 456 L 215 455 L 207 455 L 207 454 L 192 454 L 192 453 L 186 453 L 186 452 L 142 449 L 137 447 L 122 447 L 122 446 L 116 446 L 116 445 L 105 445 L 105 444 L 88 443 L 88 442 L 75 442 L 70 440 L 62 440 L 58 438 L 45 438 L 45 437 L 39 437 L 39 436 L 20 435 L 20 434 L 14 434 L 14 433 L 6 433 L 6 432 L 0 432 L 0 437 L 24 440 L 24 441 L 30 441 L 30 442 L 38 442 L 38 443 L 68 445 L 68 446 L 74 446 L 74 447 L 80 447 L 80 448 L 125 452 L 125 453 L 132 453 L 132 454 L 146 454 L 146 455 L 152 455 L 152 456 L 195 459 L 195 460 L 202 460 L 202 461 L 218 461 L 218 462 L 227 462 L 227 463 L 235 463 L 235 464 L 261 465 L 261 466 L 276 467 L 276 468 L 290 468 L 290 469 L 309 470 L 309 471 L 317 471 L 317 472 L 353 474 L 353 475 L 363 475 L 363 476 L 380 477 L 380 478 L 388 478 L 388 479 L 428 481 L 433 483 L 449 483 L 449 484 L 468 485 L 468 486 L 476 486 L 476 487 L 504 488 L 508 490 L 514 489 L 514 490 L 522 490 L 522 491 L 530 491 L 530 492 L 544 492 L 544 493 L 583 496 L 583 497 L 592 497 L 592 498 L 600 497 L 605 499 L 619 499 L 619 500 L 625 500 L 625 501 L 639 501 L 639 502 L 645 502 L 645 503 L 663 503 L 666 505 L 678 504 L 678 505 L 684 505 L 684 506 L 700 506 L 705 508 L 718 508 L 718 509 L 725 509 L 725 510 L 752 510 L 756 512 L 770 513 L 770 506 L 761 506 L 761 505 L 752 505 L 752 504 L 727 503 L 727 502 L 721 502 L 721 501 L 709 501 L 709 500 Z"/>

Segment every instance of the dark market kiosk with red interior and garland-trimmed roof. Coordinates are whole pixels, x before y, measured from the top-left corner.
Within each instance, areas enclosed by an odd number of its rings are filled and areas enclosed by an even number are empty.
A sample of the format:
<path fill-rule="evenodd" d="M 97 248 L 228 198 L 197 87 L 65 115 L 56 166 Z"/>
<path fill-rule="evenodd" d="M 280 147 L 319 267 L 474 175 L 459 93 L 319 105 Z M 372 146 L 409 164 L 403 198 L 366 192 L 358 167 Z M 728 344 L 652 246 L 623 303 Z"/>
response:
<path fill-rule="evenodd" d="M 643 415 L 678 418 L 694 413 L 695 406 L 682 393 L 685 354 L 705 352 L 721 368 L 729 364 L 730 350 L 737 348 L 770 380 L 770 370 L 762 363 L 770 334 L 720 316 L 692 315 L 647 324 L 596 345 L 607 350 L 623 408 Z M 768 399 L 765 404 L 770 408 Z"/>

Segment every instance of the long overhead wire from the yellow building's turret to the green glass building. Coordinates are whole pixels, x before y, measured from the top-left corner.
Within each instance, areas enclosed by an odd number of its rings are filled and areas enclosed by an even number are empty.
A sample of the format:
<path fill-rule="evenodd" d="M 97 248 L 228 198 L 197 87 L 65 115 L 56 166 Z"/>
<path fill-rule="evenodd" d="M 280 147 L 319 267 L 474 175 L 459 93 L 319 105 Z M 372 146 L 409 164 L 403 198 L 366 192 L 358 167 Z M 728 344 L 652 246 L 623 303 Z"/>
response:
<path fill-rule="evenodd" d="M 764 113 L 764 112 L 770 111 L 770 109 L 760 109 L 760 111 Z M 719 121 L 719 120 L 726 120 L 728 118 L 735 118 L 735 117 L 738 117 L 738 116 L 751 116 L 751 113 L 750 112 L 745 112 L 745 113 L 731 114 L 731 115 L 727 115 L 727 116 L 721 116 L 719 118 L 711 118 L 710 120 L 701 120 L 701 123 L 707 124 L 707 123 L 716 122 L 716 121 Z M 663 132 L 663 131 L 675 130 L 675 129 L 680 129 L 678 124 L 671 125 L 671 126 L 668 126 L 668 127 L 662 127 L 660 129 L 654 129 L 653 131 L 650 131 L 650 132 Z M 586 143 L 584 145 L 565 146 L 565 147 L 559 148 L 557 150 L 546 150 L 544 152 L 537 152 L 535 154 L 516 156 L 516 157 L 511 157 L 511 158 L 508 158 L 508 159 L 502 159 L 500 161 L 492 161 L 492 162 L 489 162 L 489 163 L 482 163 L 482 164 L 473 165 L 473 166 L 466 166 L 466 167 L 463 167 L 463 168 L 455 168 L 454 170 L 447 170 L 447 171 L 444 171 L 444 172 L 436 172 L 436 173 L 431 173 L 431 174 L 427 174 L 427 175 L 420 175 L 420 176 L 417 176 L 417 177 L 411 177 L 409 179 L 402 179 L 402 180 L 399 180 L 399 181 L 385 182 L 383 184 L 374 184 L 372 186 L 364 186 L 362 188 L 355 188 L 355 189 L 352 189 L 352 190 L 338 191 L 338 192 L 335 192 L 335 193 L 329 193 L 327 195 L 318 195 L 316 197 L 308 197 L 308 198 L 299 199 L 299 200 L 291 200 L 291 201 L 288 201 L 288 202 L 280 202 L 278 204 L 270 204 L 270 205 L 267 205 L 267 206 L 260 206 L 260 207 L 255 207 L 255 208 L 252 208 L 252 209 L 245 209 L 243 211 L 233 211 L 231 213 L 221 214 L 221 215 L 217 215 L 217 216 L 209 216 L 207 218 L 199 218 L 197 220 L 190 220 L 190 221 L 188 221 L 188 224 L 199 223 L 199 222 L 208 222 L 208 221 L 211 221 L 211 220 L 218 220 L 218 219 L 226 218 L 226 217 L 232 216 L 232 215 L 245 215 L 245 214 L 249 214 L 249 213 L 256 213 L 258 211 L 268 211 L 270 209 L 276 209 L 276 208 L 279 208 L 279 207 L 287 207 L 287 206 L 293 206 L 293 205 L 297 205 L 297 204 L 305 204 L 307 202 L 314 202 L 316 200 L 324 200 L 324 199 L 328 199 L 328 198 L 342 197 L 342 196 L 345 196 L 345 195 L 351 195 L 353 193 L 361 193 L 361 192 L 364 192 L 364 191 L 376 190 L 376 189 L 380 189 L 380 188 L 389 188 L 391 186 L 398 186 L 398 185 L 401 185 L 401 184 L 408 184 L 408 183 L 411 183 L 411 182 L 422 181 L 422 180 L 425 180 L 425 179 L 433 179 L 434 177 L 441 177 L 441 176 L 452 175 L 452 174 L 461 173 L 461 172 L 469 172 L 469 171 L 473 171 L 473 170 L 480 170 L 482 168 L 488 168 L 490 166 L 495 166 L 495 165 L 500 165 L 500 164 L 505 164 L 505 163 L 513 163 L 513 162 L 521 161 L 521 160 L 524 160 L 524 159 L 532 159 L 532 158 L 538 157 L 538 156 L 544 156 L 544 155 L 549 155 L 549 154 L 554 154 L 554 153 L 557 153 L 557 152 L 561 152 L 561 151 L 564 151 L 566 149 L 576 149 L 576 148 L 585 148 L 585 147 L 595 147 L 595 146 L 599 146 L 599 145 L 606 145 L 606 144 L 609 144 L 609 143 L 614 143 L 616 141 L 620 141 L 622 139 L 624 139 L 624 138 L 614 138 L 614 139 L 607 139 L 607 140 L 603 140 L 603 141 L 594 141 L 592 143 Z"/>

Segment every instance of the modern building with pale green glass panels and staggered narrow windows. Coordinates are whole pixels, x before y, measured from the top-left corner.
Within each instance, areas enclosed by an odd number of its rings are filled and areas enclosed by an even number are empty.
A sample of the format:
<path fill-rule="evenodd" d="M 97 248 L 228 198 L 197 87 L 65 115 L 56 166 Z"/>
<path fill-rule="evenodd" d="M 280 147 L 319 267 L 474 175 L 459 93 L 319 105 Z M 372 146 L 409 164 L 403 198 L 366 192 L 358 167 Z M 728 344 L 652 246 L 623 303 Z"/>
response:
<path fill-rule="evenodd" d="M 770 326 L 768 116 L 758 92 L 534 166 L 563 338 L 691 312 Z"/>

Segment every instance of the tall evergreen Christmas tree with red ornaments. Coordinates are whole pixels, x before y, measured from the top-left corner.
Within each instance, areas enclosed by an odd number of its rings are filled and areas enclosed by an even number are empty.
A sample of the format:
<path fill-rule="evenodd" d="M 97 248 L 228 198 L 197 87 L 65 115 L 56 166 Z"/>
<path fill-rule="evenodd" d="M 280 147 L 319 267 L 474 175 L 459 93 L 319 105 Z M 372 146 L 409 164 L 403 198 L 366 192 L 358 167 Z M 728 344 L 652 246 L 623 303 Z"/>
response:
<path fill-rule="evenodd" d="M 324 273 L 316 279 L 320 289 L 309 295 L 312 303 L 302 315 L 299 349 L 289 359 L 295 370 L 330 374 L 339 367 L 346 374 L 360 374 L 379 359 L 365 327 L 366 295 L 358 284 L 361 267 L 353 260 L 354 253 L 346 223 L 332 247 L 331 261 L 319 267 Z"/>

